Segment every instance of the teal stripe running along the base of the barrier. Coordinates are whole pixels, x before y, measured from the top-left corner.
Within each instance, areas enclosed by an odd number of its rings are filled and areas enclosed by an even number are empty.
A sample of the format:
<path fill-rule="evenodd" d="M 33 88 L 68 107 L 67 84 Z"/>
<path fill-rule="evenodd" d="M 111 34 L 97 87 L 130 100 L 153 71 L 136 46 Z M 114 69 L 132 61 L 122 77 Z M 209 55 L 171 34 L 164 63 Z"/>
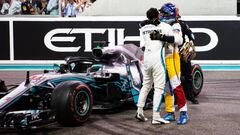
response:
<path fill-rule="evenodd" d="M 240 71 L 240 65 L 200 65 L 203 71 Z M 53 65 L 0 65 L 0 70 L 52 70 Z"/>

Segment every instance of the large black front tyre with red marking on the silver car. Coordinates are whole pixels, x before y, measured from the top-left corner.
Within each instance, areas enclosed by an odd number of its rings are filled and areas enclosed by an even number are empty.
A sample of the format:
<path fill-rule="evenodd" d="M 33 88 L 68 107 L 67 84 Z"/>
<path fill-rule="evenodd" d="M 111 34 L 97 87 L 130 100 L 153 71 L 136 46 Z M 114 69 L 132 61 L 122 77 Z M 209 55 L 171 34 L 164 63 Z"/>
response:
<path fill-rule="evenodd" d="M 86 122 L 92 105 L 92 92 L 84 83 L 67 81 L 53 90 L 51 106 L 57 122 L 63 126 L 77 126 Z"/>

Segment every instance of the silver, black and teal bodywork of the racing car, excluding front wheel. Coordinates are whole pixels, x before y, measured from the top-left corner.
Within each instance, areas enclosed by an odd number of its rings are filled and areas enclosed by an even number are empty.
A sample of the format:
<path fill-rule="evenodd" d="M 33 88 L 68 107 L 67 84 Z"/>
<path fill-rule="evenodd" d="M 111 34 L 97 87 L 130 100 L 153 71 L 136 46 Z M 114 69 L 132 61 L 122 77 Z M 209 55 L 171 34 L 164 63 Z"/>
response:
<path fill-rule="evenodd" d="M 54 121 L 51 96 L 64 82 L 86 85 L 91 90 L 93 109 L 112 109 L 129 100 L 136 103 L 142 84 L 143 51 L 125 44 L 96 49 L 93 54 L 93 58 L 68 57 L 57 70 L 27 75 L 16 88 L 2 91 L 0 127 L 29 128 Z"/>

